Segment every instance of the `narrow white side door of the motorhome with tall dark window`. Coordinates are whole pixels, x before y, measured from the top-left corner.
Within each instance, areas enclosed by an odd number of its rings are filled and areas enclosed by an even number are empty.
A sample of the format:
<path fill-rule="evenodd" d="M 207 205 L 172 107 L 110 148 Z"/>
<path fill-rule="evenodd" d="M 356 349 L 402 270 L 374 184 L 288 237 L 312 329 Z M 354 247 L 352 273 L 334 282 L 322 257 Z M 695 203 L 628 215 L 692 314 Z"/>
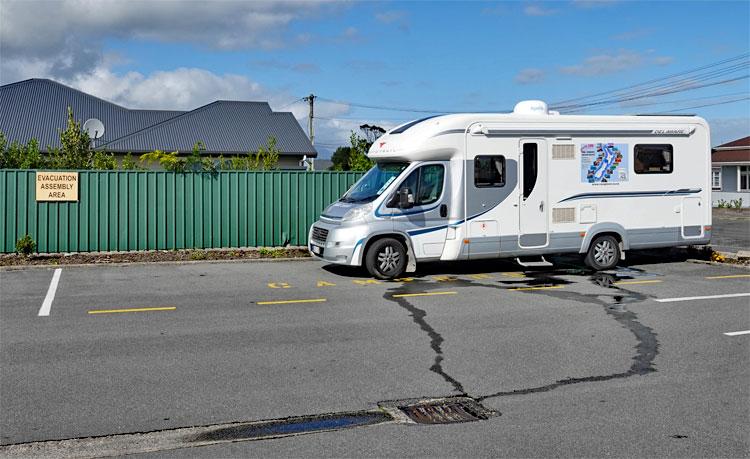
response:
<path fill-rule="evenodd" d="M 518 246 L 522 249 L 546 247 L 549 243 L 547 213 L 547 142 L 521 139 L 519 144 Z"/>

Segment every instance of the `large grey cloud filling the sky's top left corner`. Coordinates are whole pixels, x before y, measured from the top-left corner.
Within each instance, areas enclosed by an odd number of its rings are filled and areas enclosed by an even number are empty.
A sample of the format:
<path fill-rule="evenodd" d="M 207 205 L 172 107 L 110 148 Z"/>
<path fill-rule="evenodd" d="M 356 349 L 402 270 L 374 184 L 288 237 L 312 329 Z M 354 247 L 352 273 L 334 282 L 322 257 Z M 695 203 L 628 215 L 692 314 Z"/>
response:
<path fill-rule="evenodd" d="M 14 81 L 40 67 L 58 78 L 90 72 L 111 38 L 222 50 L 278 48 L 299 43 L 287 36 L 290 24 L 330 5 L 341 6 L 324 0 L 2 0 L 0 78 Z"/>

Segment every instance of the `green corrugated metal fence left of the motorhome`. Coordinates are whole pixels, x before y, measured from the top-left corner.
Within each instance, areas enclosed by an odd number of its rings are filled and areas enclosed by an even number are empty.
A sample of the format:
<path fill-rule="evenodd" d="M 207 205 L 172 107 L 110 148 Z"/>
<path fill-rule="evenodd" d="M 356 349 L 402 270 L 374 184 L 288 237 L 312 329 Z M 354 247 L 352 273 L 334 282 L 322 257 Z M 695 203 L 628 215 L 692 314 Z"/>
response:
<path fill-rule="evenodd" d="M 80 171 L 78 202 L 37 202 L 36 171 L 0 170 L 0 252 L 306 245 L 359 172 Z"/>

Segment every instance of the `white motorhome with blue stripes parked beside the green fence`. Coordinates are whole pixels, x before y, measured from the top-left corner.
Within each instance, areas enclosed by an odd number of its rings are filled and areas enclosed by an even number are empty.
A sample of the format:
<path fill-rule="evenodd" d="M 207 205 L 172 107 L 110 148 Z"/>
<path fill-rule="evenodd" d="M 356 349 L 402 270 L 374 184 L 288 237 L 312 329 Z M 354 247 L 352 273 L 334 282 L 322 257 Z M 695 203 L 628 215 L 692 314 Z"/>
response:
<path fill-rule="evenodd" d="M 610 269 L 631 249 L 707 244 L 711 147 L 694 116 L 510 114 L 401 125 L 310 228 L 311 253 L 377 278 L 416 263 L 580 253 Z"/>

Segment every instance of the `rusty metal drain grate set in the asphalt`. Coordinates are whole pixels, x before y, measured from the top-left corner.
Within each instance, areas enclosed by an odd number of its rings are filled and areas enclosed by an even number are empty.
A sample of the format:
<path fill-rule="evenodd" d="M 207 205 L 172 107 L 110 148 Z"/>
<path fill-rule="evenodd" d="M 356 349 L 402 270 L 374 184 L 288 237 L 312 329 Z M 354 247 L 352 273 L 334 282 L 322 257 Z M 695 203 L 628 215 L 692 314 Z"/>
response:
<path fill-rule="evenodd" d="M 468 397 L 430 400 L 413 405 L 399 406 L 398 409 L 417 424 L 483 421 L 496 414 Z"/>

